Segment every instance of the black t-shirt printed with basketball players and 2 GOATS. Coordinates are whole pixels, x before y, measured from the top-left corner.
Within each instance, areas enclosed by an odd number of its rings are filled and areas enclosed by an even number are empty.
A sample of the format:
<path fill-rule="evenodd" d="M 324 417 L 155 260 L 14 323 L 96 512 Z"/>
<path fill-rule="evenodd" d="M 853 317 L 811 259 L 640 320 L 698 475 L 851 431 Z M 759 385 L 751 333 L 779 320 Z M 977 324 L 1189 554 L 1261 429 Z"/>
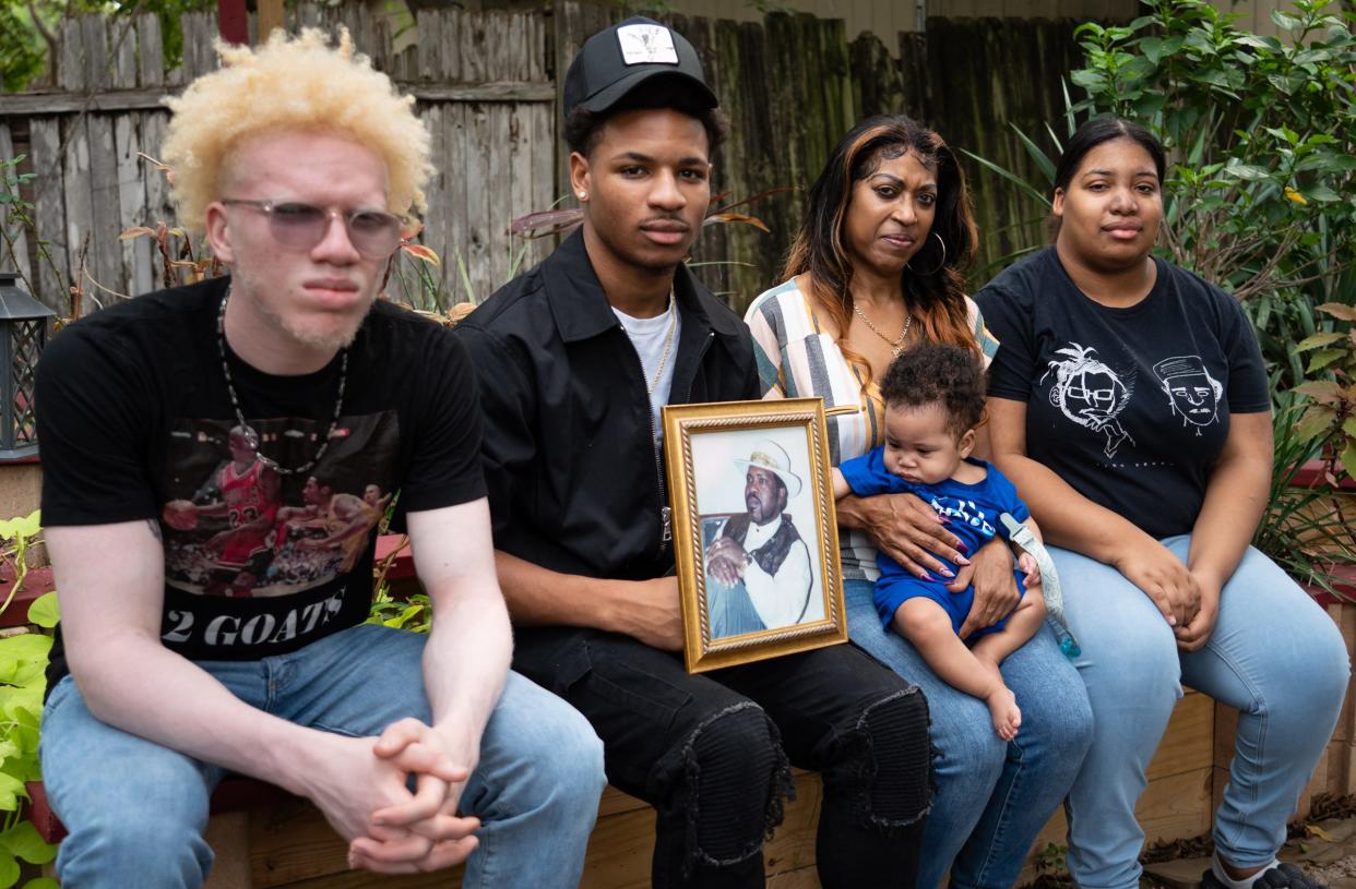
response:
<path fill-rule="evenodd" d="M 484 496 L 477 388 L 450 331 L 377 302 L 348 350 L 273 377 L 217 342 L 225 279 L 163 290 L 71 325 L 47 346 L 35 407 L 42 522 L 153 519 L 164 541 L 167 648 L 193 660 L 254 660 L 361 623 L 374 529 L 405 511 Z M 58 638 L 49 680 L 65 675 Z M 49 686 L 50 687 L 50 686 Z"/>

